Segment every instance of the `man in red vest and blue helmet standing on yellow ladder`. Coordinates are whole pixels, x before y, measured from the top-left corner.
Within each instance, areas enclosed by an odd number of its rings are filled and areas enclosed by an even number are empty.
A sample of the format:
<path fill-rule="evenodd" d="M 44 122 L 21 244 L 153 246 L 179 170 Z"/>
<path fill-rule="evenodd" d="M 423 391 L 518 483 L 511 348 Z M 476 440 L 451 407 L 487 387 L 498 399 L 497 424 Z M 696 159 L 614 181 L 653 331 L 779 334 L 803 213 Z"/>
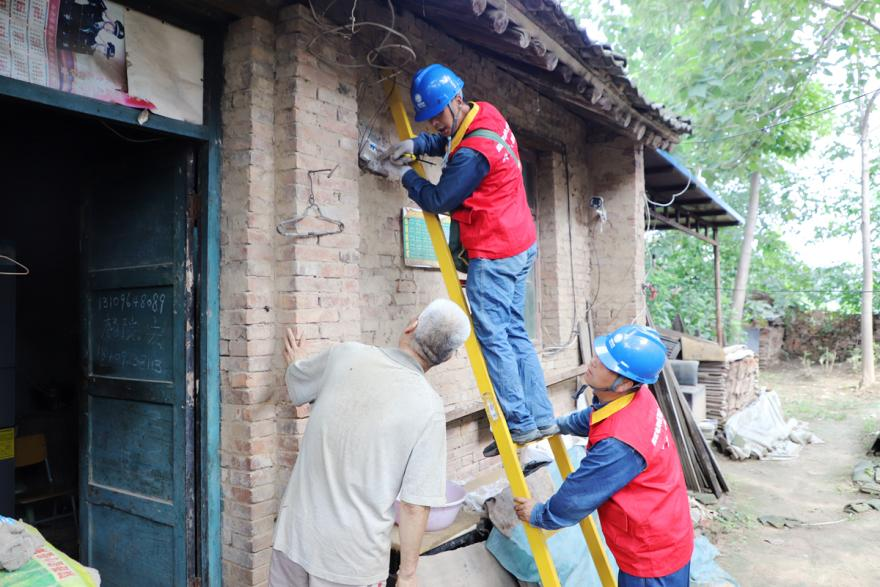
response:
<path fill-rule="evenodd" d="M 474 332 L 513 441 L 524 444 L 558 432 L 523 316 L 537 233 L 510 125 L 488 102 L 465 102 L 463 87 L 443 65 L 420 70 L 411 91 L 416 121 L 437 133 L 401 141 L 386 156 L 422 210 L 452 212 L 460 224 Z M 409 170 L 413 155 L 443 156 L 437 185 Z M 494 442 L 484 454 L 498 454 Z"/>

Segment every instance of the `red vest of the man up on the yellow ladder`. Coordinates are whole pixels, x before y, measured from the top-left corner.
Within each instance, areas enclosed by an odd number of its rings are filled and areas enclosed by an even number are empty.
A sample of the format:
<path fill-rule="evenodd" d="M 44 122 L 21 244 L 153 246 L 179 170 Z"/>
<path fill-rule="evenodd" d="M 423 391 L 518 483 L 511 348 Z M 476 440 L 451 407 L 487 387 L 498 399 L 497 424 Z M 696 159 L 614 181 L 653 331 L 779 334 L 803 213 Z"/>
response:
<path fill-rule="evenodd" d="M 510 125 L 488 102 L 477 102 L 480 111 L 466 132 L 484 128 L 500 135 L 519 158 Z M 470 137 L 462 147 L 478 151 L 489 161 L 489 173 L 474 193 L 452 213 L 461 227 L 461 244 L 476 259 L 503 259 L 528 249 L 537 240 L 535 223 L 526 199 L 522 169 L 502 145 L 482 137 Z"/>

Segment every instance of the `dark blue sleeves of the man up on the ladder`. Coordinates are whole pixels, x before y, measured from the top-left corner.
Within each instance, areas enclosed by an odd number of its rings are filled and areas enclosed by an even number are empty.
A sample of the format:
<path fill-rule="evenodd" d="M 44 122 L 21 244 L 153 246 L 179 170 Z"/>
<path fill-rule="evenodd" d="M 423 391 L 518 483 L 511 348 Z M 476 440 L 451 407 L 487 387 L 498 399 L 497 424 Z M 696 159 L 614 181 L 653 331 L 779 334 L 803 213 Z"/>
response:
<path fill-rule="evenodd" d="M 413 139 L 415 155 L 439 157 L 446 152 L 448 141 L 439 134 L 421 133 Z M 403 175 L 403 187 L 409 197 L 427 212 L 451 212 L 477 189 L 489 173 L 489 161 L 478 151 L 462 147 L 443 169 L 437 185 L 422 179 L 416 172 Z"/>

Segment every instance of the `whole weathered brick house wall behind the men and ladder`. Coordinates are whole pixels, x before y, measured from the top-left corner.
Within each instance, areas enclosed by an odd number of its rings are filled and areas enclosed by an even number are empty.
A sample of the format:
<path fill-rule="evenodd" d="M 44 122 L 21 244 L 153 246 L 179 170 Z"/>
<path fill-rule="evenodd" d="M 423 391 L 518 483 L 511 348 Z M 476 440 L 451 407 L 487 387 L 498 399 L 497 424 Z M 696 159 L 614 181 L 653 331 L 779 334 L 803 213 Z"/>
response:
<path fill-rule="evenodd" d="M 382 3 L 359 5 L 375 20 L 387 18 Z M 587 144 L 596 127 L 413 15 L 399 14 L 396 28 L 413 41 L 419 66 L 440 61 L 457 70 L 466 97 L 498 106 L 521 147 L 537 154 L 540 344 L 567 342 L 573 320 L 585 319 L 594 299 L 600 330 L 636 316 L 643 271 L 640 151 L 626 141 L 608 152 Z M 409 319 L 446 295 L 439 271 L 403 263 L 401 208 L 414 203 L 398 182 L 357 167 L 359 128 L 395 136 L 379 74 L 332 65 L 362 50 L 354 42 L 328 35 L 309 50 L 319 31 L 307 8 L 291 6 L 273 23 L 233 24 L 226 42 L 221 456 L 227 585 L 266 584 L 278 501 L 308 424 L 308 408 L 292 406 L 283 387 L 285 328 L 298 328 L 315 350 L 343 340 L 393 345 Z M 403 87 L 411 74 L 400 77 Z M 429 169 L 436 179 L 439 167 Z M 310 187 L 310 170 L 332 173 L 313 173 Z M 609 208 L 602 232 L 588 208 L 597 192 Z M 326 216 L 345 223 L 344 232 L 302 239 L 277 234 L 277 223 L 306 211 L 310 194 Z M 542 362 L 547 373 L 576 366 L 577 341 L 544 353 Z M 464 353 L 429 379 L 449 413 L 450 478 L 499 466 L 481 454 L 491 435 Z M 552 386 L 558 413 L 572 409 L 573 389 L 573 381 Z"/>

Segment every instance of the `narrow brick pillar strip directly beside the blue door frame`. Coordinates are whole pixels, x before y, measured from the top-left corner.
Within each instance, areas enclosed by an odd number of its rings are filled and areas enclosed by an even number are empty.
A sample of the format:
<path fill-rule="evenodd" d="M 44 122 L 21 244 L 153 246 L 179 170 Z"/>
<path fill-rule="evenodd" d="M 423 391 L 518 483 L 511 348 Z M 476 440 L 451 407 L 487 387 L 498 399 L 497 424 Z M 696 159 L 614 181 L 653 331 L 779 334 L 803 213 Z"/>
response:
<path fill-rule="evenodd" d="M 224 54 L 220 368 L 223 580 L 261 585 L 277 509 L 274 26 L 234 23 Z"/>

